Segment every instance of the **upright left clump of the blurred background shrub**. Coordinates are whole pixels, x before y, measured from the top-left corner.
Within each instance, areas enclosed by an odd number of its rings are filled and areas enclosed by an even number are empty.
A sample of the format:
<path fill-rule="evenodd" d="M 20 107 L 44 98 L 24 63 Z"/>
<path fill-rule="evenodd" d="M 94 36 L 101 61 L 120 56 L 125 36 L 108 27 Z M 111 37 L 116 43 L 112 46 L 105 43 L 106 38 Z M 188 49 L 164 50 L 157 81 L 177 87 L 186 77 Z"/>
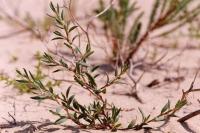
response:
<path fill-rule="evenodd" d="M 103 0 L 100 0 L 99 3 L 100 7 L 95 11 L 96 13 L 100 13 L 105 8 Z M 140 13 L 131 26 L 132 28 L 129 34 L 126 35 L 125 31 L 127 29 L 128 19 L 138 8 L 136 7 L 136 2 L 131 4 L 129 0 L 119 0 L 118 6 L 119 8 L 112 6 L 100 16 L 100 20 L 104 24 L 105 34 L 109 36 L 109 39 L 113 38 L 111 46 L 113 50 L 112 60 L 117 60 L 117 58 L 119 58 L 119 50 L 122 50 L 124 45 L 126 45 L 126 47 L 133 46 L 132 44 L 137 41 L 142 27 L 140 18 L 143 13 Z"/>

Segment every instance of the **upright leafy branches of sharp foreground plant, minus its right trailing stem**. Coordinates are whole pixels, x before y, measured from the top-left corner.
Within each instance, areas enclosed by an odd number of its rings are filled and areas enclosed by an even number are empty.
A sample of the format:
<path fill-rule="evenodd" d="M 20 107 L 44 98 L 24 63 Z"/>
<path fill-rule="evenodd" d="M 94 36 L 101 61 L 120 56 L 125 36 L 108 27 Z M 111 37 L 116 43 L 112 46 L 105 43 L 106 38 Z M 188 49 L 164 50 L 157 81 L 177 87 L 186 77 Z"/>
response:
<path fill-rule="evenodd" d="M 32 99 L 43 100 L 50 99 L 55 101 L 58 105 L 62 106 L 65 111 L 65 115 L 59 112 L 51 111 L 53 114 L 59 116 L 56 123 L 61 123 L 66 119 L 72 120 L 74 123 L 82 128 L 95 128 L 95 129 L 117 129 L 120 124 L 118 123 L 120 108 L 114 105 L 108 104 L 107 100 L 103 97 L 106 93 L 107 87 L 116 83 L 120 77 L 125 73 L 128 66 L 124 66 L 120 71 L 116 71 L 116 75 L 113 79 L 107 76 L 107 81 L 103 86 L 98 85 L 98 74 L 95 73 L 97 66 L 91 66 L 87 60 L 93 54 L 89 37 L 86 32 L 78 25 L 78 23 L 72 23 L 65 19 L 65 13 L 59 5 L 54 6 L 50 3 L 51 10 L 54 16 L 51 16 L 56 21 L 56 27 L 58 30 L 54 32 L 55 38 L 52 40 L 63 40 L 63 45 L 71 50 L 74 59 L 55 58 L 55 55 L 44 53 L 42 62 L 47 66 L 55 67 L 54 73 L 59 71 L 68 71 L 73 74 L 74 81 L 80 85 L 83 89 L 90 92 L 96 99 L 89 105 L 81 105 L 74 95 L 70 94 L 71 86 L 65 93 L 57 94 L 53 87 L 46 87 L 40 79 L 35 78 L 34 74 L 26 71 L 17 71 L 21 77 L 17 80 L 19 83 L 25 85 L 31 85 L 33 88 L 37 88 L 42 91 L 42 94 L 32 97 Z M 82 30 L 87 40 L 85 50 L 81 50 L 75 43 L 76 37 L 72 36 L 72 32 L 75 30 Z M 82 44 L 83 45 L 83 44 Z M 71 60 L 71 61 L 70 61 Z"/>

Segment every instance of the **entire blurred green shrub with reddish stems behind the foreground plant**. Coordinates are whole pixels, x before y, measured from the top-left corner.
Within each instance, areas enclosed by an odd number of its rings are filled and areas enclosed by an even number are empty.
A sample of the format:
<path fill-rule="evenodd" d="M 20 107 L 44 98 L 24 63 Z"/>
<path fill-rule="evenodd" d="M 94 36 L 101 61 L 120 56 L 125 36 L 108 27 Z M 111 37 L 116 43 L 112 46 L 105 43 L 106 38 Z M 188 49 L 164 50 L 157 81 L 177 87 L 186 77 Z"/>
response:
<path fill-rule="evenodd" d="M 193 2 L 197 4 L 194 8 L 190 6 Z M 142 22 L 144 12 L 137 7 L 137 1 L 131 3 L 129 0 L 119 0 L 117 3 L 117 6 L 112 5 L 101 15 L 99 20 L 103 22 L 105 36 L 111 43 L 113 53 L 111 60 L 118 64 L 129 62 L 154 31 L 164 29 L 156 37 L 171 34 L 190 23 L 200 12 L 199 2 L 194 0 L 154 0 L 146 27 Z M 96 13 L 105 9 L 103 0 L 99 0 L 99 5 L 95 10 Z M 131 17 L 132 15 L 136 16 L 135 19 Z M 130 19 L 133 20 L 131 25 L 128 24 Z M 166 26 L 169 26 L 169 29 L 165 29 Z M 145 30 L 144 33 L 141 33 L 142 29 Z"/>

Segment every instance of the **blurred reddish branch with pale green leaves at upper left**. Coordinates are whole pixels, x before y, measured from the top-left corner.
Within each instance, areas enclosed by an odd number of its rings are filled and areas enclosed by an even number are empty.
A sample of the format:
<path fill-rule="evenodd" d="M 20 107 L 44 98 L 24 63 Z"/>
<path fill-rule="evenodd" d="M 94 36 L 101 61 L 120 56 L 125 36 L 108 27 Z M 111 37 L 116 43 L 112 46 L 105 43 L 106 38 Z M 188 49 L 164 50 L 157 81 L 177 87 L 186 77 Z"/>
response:
<path fill-rule="evenodd" d="M 44 40 L 50 27 L 53 25 L 53 20 L 44 16 L 42 19 L 35 19 L 29 12 L 22 16 L 19 11 L 15 11 L 14 15 L 9 14 L 1 9 L 0 20 L 18 29 L 13 33 L 1 35 L 0 38 L 8 38 L 24 32 L 29 32 L 30 36 L 36 39 Z"/>

